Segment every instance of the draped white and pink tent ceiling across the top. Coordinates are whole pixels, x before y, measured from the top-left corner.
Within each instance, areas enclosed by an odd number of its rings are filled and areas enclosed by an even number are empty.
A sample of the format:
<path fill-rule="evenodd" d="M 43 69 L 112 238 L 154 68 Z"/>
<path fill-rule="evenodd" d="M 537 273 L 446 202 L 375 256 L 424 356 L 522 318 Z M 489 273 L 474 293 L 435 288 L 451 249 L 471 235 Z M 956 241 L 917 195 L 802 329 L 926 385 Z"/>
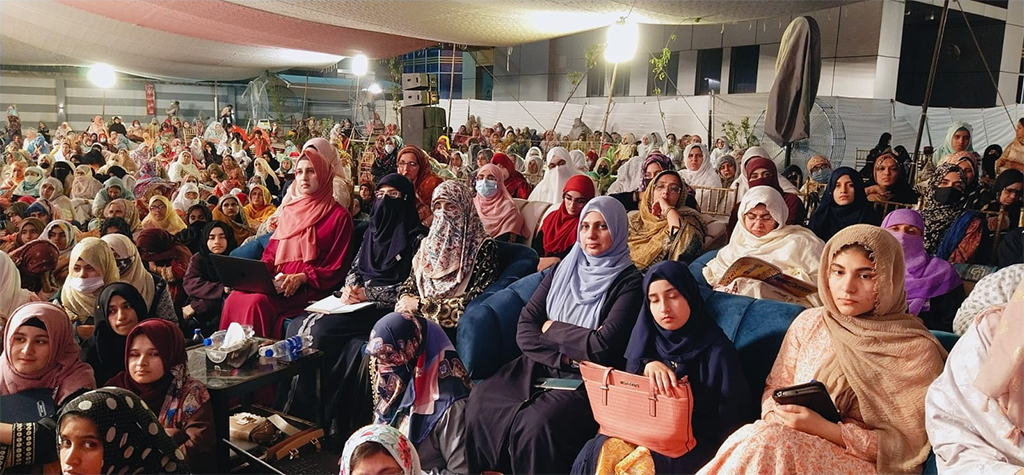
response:
<path fill-rule="evenodd" d="M 0 63 L 108 62 L 140 76 L 244 79 L 431 44 L 507 46 L 604 27 L 730 23 L 859 0 L 3 0 Z M 632 8 L 632 11 L 631 11 Z"/>

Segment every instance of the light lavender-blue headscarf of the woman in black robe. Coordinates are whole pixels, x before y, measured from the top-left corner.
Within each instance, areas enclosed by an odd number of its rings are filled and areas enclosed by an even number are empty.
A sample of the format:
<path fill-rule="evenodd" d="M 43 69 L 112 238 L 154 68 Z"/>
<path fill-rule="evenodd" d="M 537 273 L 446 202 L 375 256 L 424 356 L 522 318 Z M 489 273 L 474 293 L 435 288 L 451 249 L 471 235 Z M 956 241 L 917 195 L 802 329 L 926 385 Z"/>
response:
<path fill-rule="evenodd" d="M 611 233 L 611 248 L 596 257 L 587 254 L 580 246 L 580 229 L 591 211 L 604 217 Z M 580 213 L 577 242 L 551 278 L 546 306 L 548 318 L 585 329 L 597 329 L 608 289 L 623 270 L 633 267 L 626 243 L 629 233 L 627 221 L 626 208 L 611 197 L 597 197 L 587 203 Z"/>

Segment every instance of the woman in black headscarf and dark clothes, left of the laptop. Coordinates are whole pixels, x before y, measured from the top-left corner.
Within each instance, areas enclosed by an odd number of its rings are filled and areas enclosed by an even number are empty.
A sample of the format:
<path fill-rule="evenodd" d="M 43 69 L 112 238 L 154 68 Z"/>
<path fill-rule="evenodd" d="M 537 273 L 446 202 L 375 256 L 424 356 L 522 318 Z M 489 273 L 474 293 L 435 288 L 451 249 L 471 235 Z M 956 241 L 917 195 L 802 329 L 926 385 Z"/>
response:
<path fill-rule="evenodd" d="M 182 278 L 187 300 L 181 314 L 196 321 L 203 335 L 210 335 L 220 327 L 225 294 L 210 255 L 228 255 L 236 246 L 230 226 L 220 221 L 202 223 L 202 247 L 193 254 Z"/>

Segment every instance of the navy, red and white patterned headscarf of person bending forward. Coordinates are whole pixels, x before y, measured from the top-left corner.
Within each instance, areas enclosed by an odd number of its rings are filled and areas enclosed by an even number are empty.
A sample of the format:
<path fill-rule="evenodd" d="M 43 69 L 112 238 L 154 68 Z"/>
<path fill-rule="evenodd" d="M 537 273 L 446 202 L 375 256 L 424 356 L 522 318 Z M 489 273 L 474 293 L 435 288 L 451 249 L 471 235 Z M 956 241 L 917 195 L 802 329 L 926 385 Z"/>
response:
<path fill-rule="evenodd" d="M 469 372 L 433 321 L 388 313 L 374 325 L 366 351 L 378 369 L 390 370 L 377 375 L 375 423 L 398 428 L 408 416 L 414 444 L 430 435 L 453 402 L 469 396 Z"/>

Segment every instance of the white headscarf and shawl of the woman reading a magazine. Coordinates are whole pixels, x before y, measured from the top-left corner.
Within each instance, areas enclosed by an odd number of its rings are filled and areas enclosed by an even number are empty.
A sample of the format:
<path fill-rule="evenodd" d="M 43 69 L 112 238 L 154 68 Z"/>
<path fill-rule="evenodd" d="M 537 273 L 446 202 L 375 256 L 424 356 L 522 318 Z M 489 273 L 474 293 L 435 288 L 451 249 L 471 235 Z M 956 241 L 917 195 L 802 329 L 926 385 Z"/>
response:
<path fill-rule="evenodd" d="M 746 230 L 743 215 L 758 205 L 768 209 L 778 227 L 762 238 Z M 708 262 L 702 272 L 708 283 L 714 287 L 725 274 L 729 266 L 740 257 L 756 257 L 782 269 L 786 275 L 817 285 L 818 269 L 821 267 L 821 253 L 825 244 L 810 229 L 799 225 L 786 225 L 790 209 L 785 200 L 771 186 L 755 186 L 739 202 L 739 222 L 732 230 L 732 238 L 718 255 Z"/>

